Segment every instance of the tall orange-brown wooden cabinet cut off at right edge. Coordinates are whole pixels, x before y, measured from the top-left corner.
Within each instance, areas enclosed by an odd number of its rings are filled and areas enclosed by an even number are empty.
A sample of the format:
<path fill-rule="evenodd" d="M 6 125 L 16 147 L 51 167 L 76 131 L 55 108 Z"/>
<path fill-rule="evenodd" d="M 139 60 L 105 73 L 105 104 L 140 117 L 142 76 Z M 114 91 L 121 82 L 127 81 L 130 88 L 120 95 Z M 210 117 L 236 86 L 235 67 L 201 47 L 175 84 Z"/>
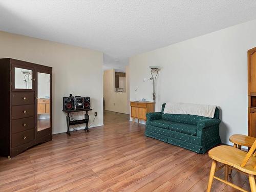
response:
<path fill-rule="evenodd" d="M 248 50 L 248 136 L 256 137 L 256 48 Z"/>

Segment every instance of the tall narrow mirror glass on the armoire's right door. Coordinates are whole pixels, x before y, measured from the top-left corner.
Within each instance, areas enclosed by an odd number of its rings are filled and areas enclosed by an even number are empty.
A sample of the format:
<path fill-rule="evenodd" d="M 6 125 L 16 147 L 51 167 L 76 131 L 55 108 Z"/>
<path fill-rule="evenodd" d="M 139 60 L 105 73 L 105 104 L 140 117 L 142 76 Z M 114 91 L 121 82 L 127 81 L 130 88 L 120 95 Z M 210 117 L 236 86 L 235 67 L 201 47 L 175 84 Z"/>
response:
<path fill-rule="evenodd" d="M 37 131 L 51 127 L 50 74 L 37 73 Z"/>

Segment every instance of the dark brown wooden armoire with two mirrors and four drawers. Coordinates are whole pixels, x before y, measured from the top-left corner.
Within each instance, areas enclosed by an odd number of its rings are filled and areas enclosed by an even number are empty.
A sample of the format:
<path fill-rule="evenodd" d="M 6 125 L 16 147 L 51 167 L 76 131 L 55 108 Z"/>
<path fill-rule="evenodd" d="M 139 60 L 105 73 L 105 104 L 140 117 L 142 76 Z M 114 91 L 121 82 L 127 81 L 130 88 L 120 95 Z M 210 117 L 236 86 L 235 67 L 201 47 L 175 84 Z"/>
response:
<path fill-rule="evenodd" d="M 0 59 L 0 155 L 52 140 L 52 68 Z"/>

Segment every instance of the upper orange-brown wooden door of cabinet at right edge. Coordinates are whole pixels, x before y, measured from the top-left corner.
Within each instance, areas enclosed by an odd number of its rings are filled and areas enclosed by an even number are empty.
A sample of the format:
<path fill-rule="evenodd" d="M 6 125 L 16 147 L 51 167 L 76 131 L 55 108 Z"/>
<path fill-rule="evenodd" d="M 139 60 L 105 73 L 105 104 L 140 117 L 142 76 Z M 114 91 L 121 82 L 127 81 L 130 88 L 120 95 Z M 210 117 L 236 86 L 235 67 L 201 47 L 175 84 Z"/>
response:
<path fill-rule="evenodd" d="M 248 94 L 256 95 L 256 49 L 248 51 Z"/>

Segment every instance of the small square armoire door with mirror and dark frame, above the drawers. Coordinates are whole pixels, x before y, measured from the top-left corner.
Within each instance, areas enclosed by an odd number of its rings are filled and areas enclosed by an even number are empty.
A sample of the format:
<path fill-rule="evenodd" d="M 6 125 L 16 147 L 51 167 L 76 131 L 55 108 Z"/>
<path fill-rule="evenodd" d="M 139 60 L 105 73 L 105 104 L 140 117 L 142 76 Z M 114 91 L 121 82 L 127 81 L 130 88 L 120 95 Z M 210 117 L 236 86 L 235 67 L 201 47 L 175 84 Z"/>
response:
<path fill-rule="evenodd" d="M 12 61 L 12 91 L 34 91 L 34 67 L 26 62 Z"/>

